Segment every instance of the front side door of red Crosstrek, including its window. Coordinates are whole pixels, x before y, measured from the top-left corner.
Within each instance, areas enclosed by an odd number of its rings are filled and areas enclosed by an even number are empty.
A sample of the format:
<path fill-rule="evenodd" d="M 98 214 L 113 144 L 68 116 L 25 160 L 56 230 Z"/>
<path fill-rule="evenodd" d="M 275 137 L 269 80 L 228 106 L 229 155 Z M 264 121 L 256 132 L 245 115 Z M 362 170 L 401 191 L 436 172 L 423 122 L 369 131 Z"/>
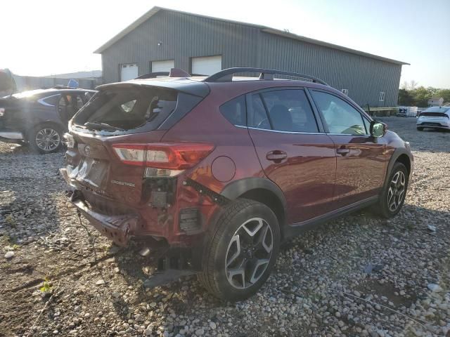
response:
<path fill-rule="evenodd" d="M 311 95 L 335 144 L 335 206 L 375 197 L 385 172 L 384 138 L 370 136 L 368 117 L 337 95 L 323 91 Z"/>

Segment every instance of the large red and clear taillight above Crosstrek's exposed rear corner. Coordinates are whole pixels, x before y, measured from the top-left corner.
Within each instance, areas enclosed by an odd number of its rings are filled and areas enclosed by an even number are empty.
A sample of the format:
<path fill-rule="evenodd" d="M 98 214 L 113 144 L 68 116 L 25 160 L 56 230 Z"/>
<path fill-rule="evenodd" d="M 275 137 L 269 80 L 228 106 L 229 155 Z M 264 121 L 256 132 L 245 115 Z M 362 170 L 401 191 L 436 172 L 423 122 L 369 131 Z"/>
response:
<path fill-rule="evenodd" d="M 114 144 L 113 149 L 124 164 L 157 169 L 157 171 L 146 170 L 155 175 L 174 176 L 198 164 L 214 149 L 214 145 L 208 143 L 130 143 Z"/>

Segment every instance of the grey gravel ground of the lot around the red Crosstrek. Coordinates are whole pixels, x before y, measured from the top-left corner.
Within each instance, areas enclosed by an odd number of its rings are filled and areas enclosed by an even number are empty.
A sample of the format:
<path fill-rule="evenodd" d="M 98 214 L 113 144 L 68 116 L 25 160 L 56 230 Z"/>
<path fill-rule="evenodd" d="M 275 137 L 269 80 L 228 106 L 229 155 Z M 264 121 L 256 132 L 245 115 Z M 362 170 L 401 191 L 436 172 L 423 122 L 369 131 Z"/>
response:
<path fill-rule="evenodd" d="M 0 143 L 0 336 L 450 336 L 450 133 L 384 120 L 416 158 L 401 213 L 354 213 L 288 242 L 257 296 L 234 304 L 195 277 L 144 289 L 152 267 L 136 248 L 94 231 L 89 244 L 63 153 Z"/>

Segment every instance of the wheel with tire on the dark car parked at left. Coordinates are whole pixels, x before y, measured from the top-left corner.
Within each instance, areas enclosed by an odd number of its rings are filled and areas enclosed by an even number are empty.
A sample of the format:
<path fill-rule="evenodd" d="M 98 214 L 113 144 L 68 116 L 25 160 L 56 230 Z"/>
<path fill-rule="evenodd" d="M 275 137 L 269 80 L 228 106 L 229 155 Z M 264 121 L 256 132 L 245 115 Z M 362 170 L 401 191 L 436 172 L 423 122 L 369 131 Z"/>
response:
<path fill-rule="evenodd" d="M 63 132 L 55 124 L 39 124 L 27 134 L 27 140 L 33 152 L 53 153 L 63 146 Z"/>

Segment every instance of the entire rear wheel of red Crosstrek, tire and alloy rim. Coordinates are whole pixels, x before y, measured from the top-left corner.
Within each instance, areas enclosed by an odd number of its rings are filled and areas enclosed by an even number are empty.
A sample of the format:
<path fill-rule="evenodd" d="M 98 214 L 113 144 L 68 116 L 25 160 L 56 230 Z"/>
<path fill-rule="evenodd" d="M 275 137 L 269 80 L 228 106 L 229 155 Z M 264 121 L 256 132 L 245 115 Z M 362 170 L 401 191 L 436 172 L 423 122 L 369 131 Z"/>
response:
<path fill-rule="evenodd" d="M 253 296 L 266 282 L 278 256 L 280 227 L 269 207 L 238 199 L 226 206 L 207 239 L 200 284 L 234 302 Z"/>

